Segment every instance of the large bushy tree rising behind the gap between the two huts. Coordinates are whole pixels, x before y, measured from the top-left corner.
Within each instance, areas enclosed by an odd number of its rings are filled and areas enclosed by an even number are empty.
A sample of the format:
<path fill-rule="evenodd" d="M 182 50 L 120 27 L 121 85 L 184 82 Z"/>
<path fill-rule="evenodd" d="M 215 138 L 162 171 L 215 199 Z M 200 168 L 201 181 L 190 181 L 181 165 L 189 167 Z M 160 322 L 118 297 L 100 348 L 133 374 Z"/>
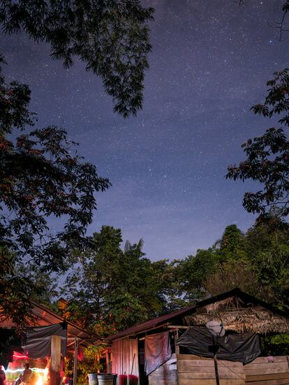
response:
<path fill-rule="evenodd" d="M 165 311 L 170 266 L 144 257 L 142 243 L 121 250 L 121 230 L 103 226 L 76 258 L 65 293 L 71 319 L 113 333 Z"/>

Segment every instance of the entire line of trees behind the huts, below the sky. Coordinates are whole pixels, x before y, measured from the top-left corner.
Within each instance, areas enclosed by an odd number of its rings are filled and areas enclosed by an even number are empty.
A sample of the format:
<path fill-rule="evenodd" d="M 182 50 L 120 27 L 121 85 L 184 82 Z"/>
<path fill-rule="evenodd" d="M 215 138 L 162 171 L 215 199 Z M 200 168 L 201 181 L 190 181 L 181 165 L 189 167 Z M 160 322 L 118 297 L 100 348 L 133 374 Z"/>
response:
<path fill-rule="evenodd" d="M 89 250 L 75 250 L 61 287 L 66 316 L 97 333 L 114 333 L 234 287 L 289 308 L 285 230 L 256 224 L 243 234 L 230 225 L 211 248 L 172 262 L 152 262 L 140 243 L 124 252 L 121 242 L 120 229 L 102 227 Z"/>

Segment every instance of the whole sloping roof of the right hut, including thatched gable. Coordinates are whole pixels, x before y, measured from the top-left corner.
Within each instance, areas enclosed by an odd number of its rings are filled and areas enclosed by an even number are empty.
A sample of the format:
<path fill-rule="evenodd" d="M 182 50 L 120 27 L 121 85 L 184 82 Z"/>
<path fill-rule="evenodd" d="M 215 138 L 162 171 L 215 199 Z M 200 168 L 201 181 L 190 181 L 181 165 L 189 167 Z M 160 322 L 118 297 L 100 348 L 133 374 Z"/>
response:
<path fill-rule="evenodd" d="M 260 301 L 235 287 L 217 296 L 177 310 L 142 324 L 131 326 L 109 335 L 105 340 L 112 342 L 128 336 L 143 335 L 149 331 L 160 331 L 168 325 L 205 326 L 213 319 L 223 322 L 225 329 L 257 333 L 289 333 L 289 314 L 273 308 L 269 303 Z"/>

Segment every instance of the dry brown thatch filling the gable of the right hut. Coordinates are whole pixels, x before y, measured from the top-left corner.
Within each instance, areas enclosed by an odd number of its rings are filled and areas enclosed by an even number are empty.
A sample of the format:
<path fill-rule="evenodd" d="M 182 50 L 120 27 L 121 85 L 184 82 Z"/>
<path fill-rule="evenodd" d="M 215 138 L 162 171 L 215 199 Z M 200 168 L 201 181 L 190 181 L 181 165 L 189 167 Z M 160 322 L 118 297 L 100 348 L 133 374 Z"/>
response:
<path fill-rule="evenodd" d="M 289 318 L 269 310 L 260 303 L 244 303 L 238 296 L 198 308 L 184 320 L 189 326 L 205 326 L 214 319 L 225 329 L 237 333 L 289 333 Z"/>

